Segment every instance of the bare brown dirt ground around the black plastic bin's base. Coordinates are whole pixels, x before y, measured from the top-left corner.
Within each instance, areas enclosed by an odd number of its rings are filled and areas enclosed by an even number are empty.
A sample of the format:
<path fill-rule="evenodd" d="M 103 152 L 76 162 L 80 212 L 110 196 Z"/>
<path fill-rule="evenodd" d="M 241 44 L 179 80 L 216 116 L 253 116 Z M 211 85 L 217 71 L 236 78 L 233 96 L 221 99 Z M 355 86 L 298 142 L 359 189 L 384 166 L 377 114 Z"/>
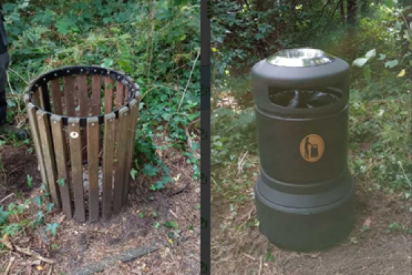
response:
<path fill-rule="evenodd" d="M 256 175 L 256 172 L 255 174 Z M 256 179 L 251 175 L 251 179 Z M 236 183 L 231 183 L 236 184 Z M 253 184 L 244 189 L 247 197 L 236 217 L 229 205 L 230 195 L 214 192 L 212 198 L 212 274 L 349 275 L 411 274 L 411 234 L 392 229 L 391 223 L 411 228 L 409 200 L 386 195 L 356 183 L 356 225 L 341 245 L 313 253 L 280 250 L 255 225 Z M 370 223 L 369 230 L 364 224 Z M 224 230 L 222 228 L 225 227 Z M 268 252 L 269 251 L 269 252 Z M 271 257 L 273 256 L 273 258 Z"/>

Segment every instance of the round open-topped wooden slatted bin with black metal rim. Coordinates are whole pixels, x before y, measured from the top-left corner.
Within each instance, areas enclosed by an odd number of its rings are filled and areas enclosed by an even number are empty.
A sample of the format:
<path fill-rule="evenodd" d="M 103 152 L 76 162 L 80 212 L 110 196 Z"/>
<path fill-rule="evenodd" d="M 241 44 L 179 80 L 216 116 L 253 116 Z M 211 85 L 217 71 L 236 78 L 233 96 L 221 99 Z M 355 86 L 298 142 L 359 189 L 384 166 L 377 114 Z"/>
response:
<path fill-rule="evenodd" d="M 25 103 L 41 178 L 54 205 L 98 221 L 127 201 L 140 89 L 113 69 L 54 69 L 27 87 Z"/>

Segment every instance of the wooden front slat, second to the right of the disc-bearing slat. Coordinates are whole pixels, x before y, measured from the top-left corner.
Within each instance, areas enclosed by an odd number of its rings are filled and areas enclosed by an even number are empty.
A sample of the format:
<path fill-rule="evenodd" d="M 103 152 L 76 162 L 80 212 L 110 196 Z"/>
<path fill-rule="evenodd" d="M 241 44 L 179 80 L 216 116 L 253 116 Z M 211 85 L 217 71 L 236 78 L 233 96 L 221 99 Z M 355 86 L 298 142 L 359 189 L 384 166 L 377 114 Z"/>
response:
<path fill-rule="evenodd" d="M 112 213 L 112 181 L 113 181 L 113 154 L 115 148 L 115 118 L 114 113 L 104 115 L 103 141 L 103 201 L 102 216 L 108 219 Z"/>

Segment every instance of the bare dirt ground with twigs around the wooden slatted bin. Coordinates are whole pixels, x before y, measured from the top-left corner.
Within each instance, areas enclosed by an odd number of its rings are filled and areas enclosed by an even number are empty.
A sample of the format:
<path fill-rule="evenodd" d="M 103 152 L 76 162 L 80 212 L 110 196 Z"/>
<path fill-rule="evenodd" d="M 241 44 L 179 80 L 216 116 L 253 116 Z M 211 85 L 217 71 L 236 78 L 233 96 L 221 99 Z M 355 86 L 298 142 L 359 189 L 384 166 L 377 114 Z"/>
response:
<path fill-rule="evenodd" d="M 200 184 L 192 179 L 192 166 L 186 164 L 181 151 L 168 148 L 161 153 L 163 162 L 176 179 L 174 183 L 154 192 L 150 184 L 157 179 L 137 175 L 130 186 L 127 206 L 109 221 L 77 223 L 65 219 L 61 211 L 53 210 L 45 219 L 47 223 L 60 223 L 56 236 L 46 232 L 45 225 L 40 225 L 10 239 L 13 245 L 56 263 L 47 264 L 36 257 L 0 248 L 0 271 L 3 272 L 14 258 L 9 274 L 87 274 L 81 272 L 95 263 L 104 263 L 108 257 L 155 245 L 155 252 L 132 261 L 108 262 L 104 272 L 96 274 L 199 274 Z M 35 155 L 28 153 L 26 147 L 9 145 L 0 146 L 0 155 L 3 163 L 0 201 L 14 194 L 1 204 L 22 203 L 41 193 Z M 27 186 L 27 174 L 33 177 L 32 188 Z M 27 211 L 27 217 L 34 217 L 38 208 L 33 206 Z M 157 212 L 157 217 L 153 212 Z M 166 227 L 167 221 L 176 221 L 179 228 Z M 155 229 L 158 222 L 160 226 Z"/>

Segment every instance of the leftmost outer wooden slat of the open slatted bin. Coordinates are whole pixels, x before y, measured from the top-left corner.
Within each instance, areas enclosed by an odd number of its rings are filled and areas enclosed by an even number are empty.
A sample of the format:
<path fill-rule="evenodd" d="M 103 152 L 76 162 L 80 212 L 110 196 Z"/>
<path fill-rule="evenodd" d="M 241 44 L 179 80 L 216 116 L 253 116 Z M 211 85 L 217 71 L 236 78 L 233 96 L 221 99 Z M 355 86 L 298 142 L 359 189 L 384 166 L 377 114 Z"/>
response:
<path fill-rule="evenodd" d="M 29 102 L 28 100 L 28 96 L 25 97 L 27 116 L 29 117 L 30 129 L 32 130 L 34 150 L 36 151 L 38 166 L 40 166 L 41 181 L 47 186 L 47 174 L 43 157 L 43 150 L 41 147 L 40 131 L 38 131 L 36 107 L 34 107 L 34 104 Z"/>

